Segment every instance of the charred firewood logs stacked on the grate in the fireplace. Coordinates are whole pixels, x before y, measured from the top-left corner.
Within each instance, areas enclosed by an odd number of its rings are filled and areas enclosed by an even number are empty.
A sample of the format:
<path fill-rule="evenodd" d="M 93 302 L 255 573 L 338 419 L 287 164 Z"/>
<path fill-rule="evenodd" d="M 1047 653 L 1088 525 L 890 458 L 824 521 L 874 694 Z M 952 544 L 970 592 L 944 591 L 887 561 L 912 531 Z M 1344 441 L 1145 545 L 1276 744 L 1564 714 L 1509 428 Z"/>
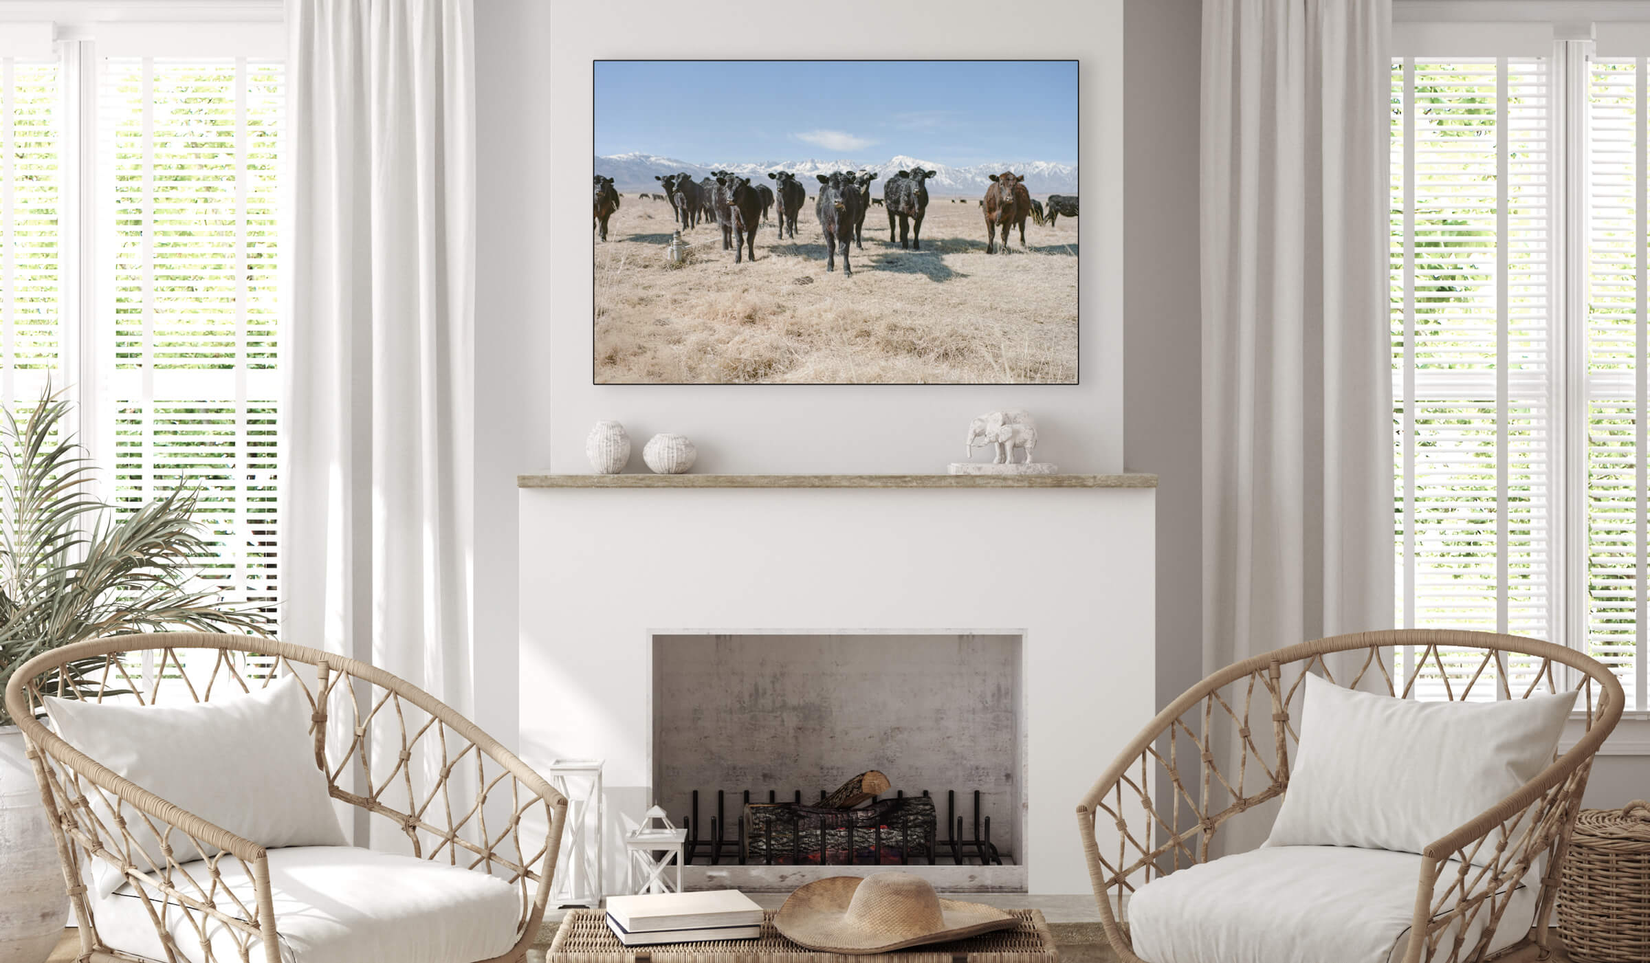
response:
<path fill-rule="evenodd" d="M 744 861 L 782 864 L 874 864 L 927 857 L 934 846 L 934 800 L 896 796 L 881 772 L 861 772 L 813 805 L 747 803 Z"/>

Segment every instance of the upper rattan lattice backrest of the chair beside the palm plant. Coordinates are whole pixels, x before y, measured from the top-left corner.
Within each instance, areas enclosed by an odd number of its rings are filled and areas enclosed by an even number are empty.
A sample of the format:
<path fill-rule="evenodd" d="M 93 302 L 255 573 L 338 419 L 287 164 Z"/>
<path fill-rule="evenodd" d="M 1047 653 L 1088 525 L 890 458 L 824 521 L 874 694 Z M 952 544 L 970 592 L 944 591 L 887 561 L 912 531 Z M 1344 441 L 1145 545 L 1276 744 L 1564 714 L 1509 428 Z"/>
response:
<path fill-rule="evenodd" d="M 134 787 L 41 726 L 43 696 L 205 702 L 287 674 L 310 702 L 315 763 L 333 798 L 388 820 L 416 856 L 485 867 L 523 889 L 540 879 L 553 848 L 523 839 L 523 823 L 548 833 L 561 795 L 450 706 L 356 660 L 246 635 L 117 635 L 23 665 L 7 686 L 7 711 L 59 763 L 50 775 L 73 806 L 87 792 L 120 796 Z"/>

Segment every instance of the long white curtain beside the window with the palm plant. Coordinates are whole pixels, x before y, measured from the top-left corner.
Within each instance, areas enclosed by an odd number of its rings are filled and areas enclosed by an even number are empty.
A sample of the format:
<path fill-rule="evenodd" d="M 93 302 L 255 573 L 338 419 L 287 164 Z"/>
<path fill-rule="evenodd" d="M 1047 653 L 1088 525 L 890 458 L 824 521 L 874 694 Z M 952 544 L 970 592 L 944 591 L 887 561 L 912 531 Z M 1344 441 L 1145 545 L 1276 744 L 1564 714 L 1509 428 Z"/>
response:
<path fill-rule="evenodd" d="M 470 0 L 289 0 L 287 25 L 282 633 L 469 714 Z"/>

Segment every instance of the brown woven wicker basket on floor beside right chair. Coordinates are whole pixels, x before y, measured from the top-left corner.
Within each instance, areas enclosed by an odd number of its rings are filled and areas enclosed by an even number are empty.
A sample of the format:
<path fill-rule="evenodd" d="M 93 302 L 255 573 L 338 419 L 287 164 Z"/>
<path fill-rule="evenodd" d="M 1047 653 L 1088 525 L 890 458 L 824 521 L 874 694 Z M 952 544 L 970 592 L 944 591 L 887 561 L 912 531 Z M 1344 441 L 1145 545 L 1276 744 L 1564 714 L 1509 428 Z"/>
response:
<path fill-rule="evenodd" d="M 1650 803 L 1581 811 L 1564 859 L 1558 927 L 1576 963 L 1650 960 Z"/>

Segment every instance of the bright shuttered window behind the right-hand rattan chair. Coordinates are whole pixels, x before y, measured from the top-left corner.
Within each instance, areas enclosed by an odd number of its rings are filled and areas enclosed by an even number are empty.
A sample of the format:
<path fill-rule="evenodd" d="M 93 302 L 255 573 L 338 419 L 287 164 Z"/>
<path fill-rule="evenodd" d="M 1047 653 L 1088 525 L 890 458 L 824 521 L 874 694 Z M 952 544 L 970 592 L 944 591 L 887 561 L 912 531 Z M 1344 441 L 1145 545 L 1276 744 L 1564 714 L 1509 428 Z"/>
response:
<path fill-rule="evenodd" d="M 1530 35 L 1393 61 L 1398 625 L 1584 650 L 1643 711 L 1645 61 Z"/>

